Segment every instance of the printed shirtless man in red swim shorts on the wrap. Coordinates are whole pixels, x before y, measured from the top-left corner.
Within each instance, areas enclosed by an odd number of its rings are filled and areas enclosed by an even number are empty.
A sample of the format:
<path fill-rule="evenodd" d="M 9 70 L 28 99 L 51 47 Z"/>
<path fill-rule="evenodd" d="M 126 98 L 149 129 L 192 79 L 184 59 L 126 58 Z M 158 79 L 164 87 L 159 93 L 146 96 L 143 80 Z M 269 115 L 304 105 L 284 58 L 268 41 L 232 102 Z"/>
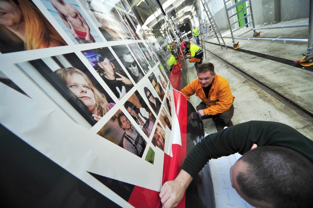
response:
<path fill-rule="evenodd" d="M 85 18 L 76 8 L 63 0 L 50 0 L 50 2 L 78 43 L 95 43 Z"/>

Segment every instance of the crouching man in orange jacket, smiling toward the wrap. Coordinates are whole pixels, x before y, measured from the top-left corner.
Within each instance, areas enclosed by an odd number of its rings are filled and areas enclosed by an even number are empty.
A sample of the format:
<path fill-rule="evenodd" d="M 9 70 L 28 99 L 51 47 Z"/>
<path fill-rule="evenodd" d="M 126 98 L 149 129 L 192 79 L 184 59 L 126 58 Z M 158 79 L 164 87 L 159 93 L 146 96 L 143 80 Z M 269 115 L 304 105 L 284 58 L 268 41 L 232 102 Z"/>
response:
<path fill-rule="evenodd" d="M 197 69 L 198 79 L 193 80 L 181 93 L 187 99 L 196 93 L 202 101 L 197 106 L 202 119 L 218 116 L 225 126 L 233 126 L 231 121 L 234 113 L 233 100 L 227 80 L 214 72 L 213 63 L 200 64 Z"/>

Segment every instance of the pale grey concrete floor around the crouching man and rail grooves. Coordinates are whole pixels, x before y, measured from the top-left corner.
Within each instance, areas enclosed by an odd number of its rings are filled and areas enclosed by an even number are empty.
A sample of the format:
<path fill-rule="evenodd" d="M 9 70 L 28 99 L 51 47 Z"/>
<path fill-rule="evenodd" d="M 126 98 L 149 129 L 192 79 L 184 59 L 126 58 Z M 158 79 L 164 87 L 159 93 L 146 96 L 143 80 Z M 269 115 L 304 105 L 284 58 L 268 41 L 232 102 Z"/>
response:
<path fill-rule="evenodd" d="M 194 39 L 191 41 L 193 42 L 193 40 Z M 264 42 L 262 43 L 264 44 Z M 296 95 L 292 91 L 299 93 L 300 90 L 304 91 L 306 89 L 306 95 L 298 94 L 298 97 L 294 97 L 299 99 L 299 103 L 301 103 L 301 105 L 303 104 L 312 109 L 313 83 L 311 82 L 312 84 L 310 84 L 312 86 L 311 88 L 306 86 L 310 80 L 313 80 L 312 72 L 281 63 L 269 63 L 269 60 L 262 60 L 262 58 L 255 58 L 255 56 L 234 50 L 228 49 L 226 51 L 225 48 L 220 49 L 218 46 L 212 44 L 207 44 L 206 47 L 218 56 L 226 59 L 228 62 L 231 62 L 233 65 L 236 65 L 236 67 L 246 70 L 249 74 L 259 76 L 259 79 L 262 81 L 269 82 L 270 80 L 276 89 L 278 88 L 278 90 L 286 92 L 286 95 Z M 246 61 L 243 62 L 242 60 Z M 203 62 L 213 63 L 216 74 L 227 79 L 230 84 L 232 94 L 236 98 L 233 103 L 234 106 L 236 106 L 234 116 L 232 118 L 234 125 L 250 120 L 276 121 L 297 129 L 301 134 L 313 140 L 313 123 L 303 118 L 300 114 L 287 107 L 285 104 L 243 77 L 241 74 L 234 71 L 232 68 L 228 67 L 225 63 L 220 61 L 218 58 L 215 58 L 213 55 L 207 53 L 207 59 L 203 60 Z M 259 63 L 258 67 L 255 67 L 256 63 Z M 190 65 L 191 63 L 188 63 L 188 66 Z M 285 68 L 281 68 L 282 65 L 284 65 Z M 189 82 L 197 78 L 194 66 L 188 67 L 187 72 Z M 293 75 L 291 76 L 291 74 Z M 304 82 L 304 80 L 306 80 L 306 82 Z M 190 97 L 190 101 L 196 107 L 201 100 L 193 95 Z M 203 120 L 203 124 L 207 134 L 216 132 L 212 119 Z"/>

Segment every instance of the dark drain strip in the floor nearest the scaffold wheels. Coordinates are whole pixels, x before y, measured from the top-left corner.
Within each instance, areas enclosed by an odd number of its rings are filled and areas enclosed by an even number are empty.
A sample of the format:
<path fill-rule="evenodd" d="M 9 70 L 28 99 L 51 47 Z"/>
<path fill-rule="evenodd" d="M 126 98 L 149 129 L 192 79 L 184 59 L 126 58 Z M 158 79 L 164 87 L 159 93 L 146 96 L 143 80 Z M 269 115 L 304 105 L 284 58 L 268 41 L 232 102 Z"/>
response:
<path fill-rule="evenodd" d="M 212 43 L 212 42 L 208 42 L 208 41 L 205 41 L 205 42 L 213 44 L 213 45 L 220 46 L 218 43 Z M 225 47 L 225 46 L 222 45 L 222 47 Z M 227 48 L 233 49 L 233 47 L 231 47 L 231 46 L 227 46 Z M 270 55 L 266 55 L 266 54 L 263 54 L 263 53 L 257 53 L 257 52 L 254 52 L 254 51 L 244 50 L 244 49 L 241 49 L 241 48 L 236 49 L 236 51 L 240 51 L 240 52 L 243 52 L 243 53 L 248 53 L 250 55 L 258 56 L 258 57 L 261 57 L 261 58 L 266 58 L 266 59 L 269 59 L 269 60 L 272 60 L 272 61 L 276 61 L 276 62 L 279 62 L 279 63 L 284 63 L 284 64 L 287 64 L 289 66 L 294 66 L 294 67 L 297 67 L 297 68 L 302 68 L 302 69 L 305 69 L 305 70 L 313 72 L 313 66 L 303 67 L 300 64 L 296 64 L 292 60 L 288 60 L 288 59 L 285 59 L 285 58 L 279 58 L 279 57 L 275 57 L 275 56 L 270 56 Z"/>

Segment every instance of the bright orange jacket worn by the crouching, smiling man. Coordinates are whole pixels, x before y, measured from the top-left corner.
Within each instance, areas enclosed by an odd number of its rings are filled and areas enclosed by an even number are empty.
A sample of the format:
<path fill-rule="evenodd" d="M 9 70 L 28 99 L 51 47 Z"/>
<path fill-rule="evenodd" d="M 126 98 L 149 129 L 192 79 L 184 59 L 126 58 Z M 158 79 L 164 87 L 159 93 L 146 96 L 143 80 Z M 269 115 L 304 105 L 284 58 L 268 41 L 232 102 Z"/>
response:
<path fill-rule="evenodd" d="M 205 97 L 198 78 L 184 87 L 184 89 L 181 90 L 181 93 L 185 95 L 188 100 L 189 96 L 196 93 L 196 96 L 208 107 L 207 109 L 204 109 L 206 115 L 216 115 L 227 111 L 235 99 L 227 80 L 217 74 L 215 74 L 215 79 L 209 91 L 208 98 Z"/>

